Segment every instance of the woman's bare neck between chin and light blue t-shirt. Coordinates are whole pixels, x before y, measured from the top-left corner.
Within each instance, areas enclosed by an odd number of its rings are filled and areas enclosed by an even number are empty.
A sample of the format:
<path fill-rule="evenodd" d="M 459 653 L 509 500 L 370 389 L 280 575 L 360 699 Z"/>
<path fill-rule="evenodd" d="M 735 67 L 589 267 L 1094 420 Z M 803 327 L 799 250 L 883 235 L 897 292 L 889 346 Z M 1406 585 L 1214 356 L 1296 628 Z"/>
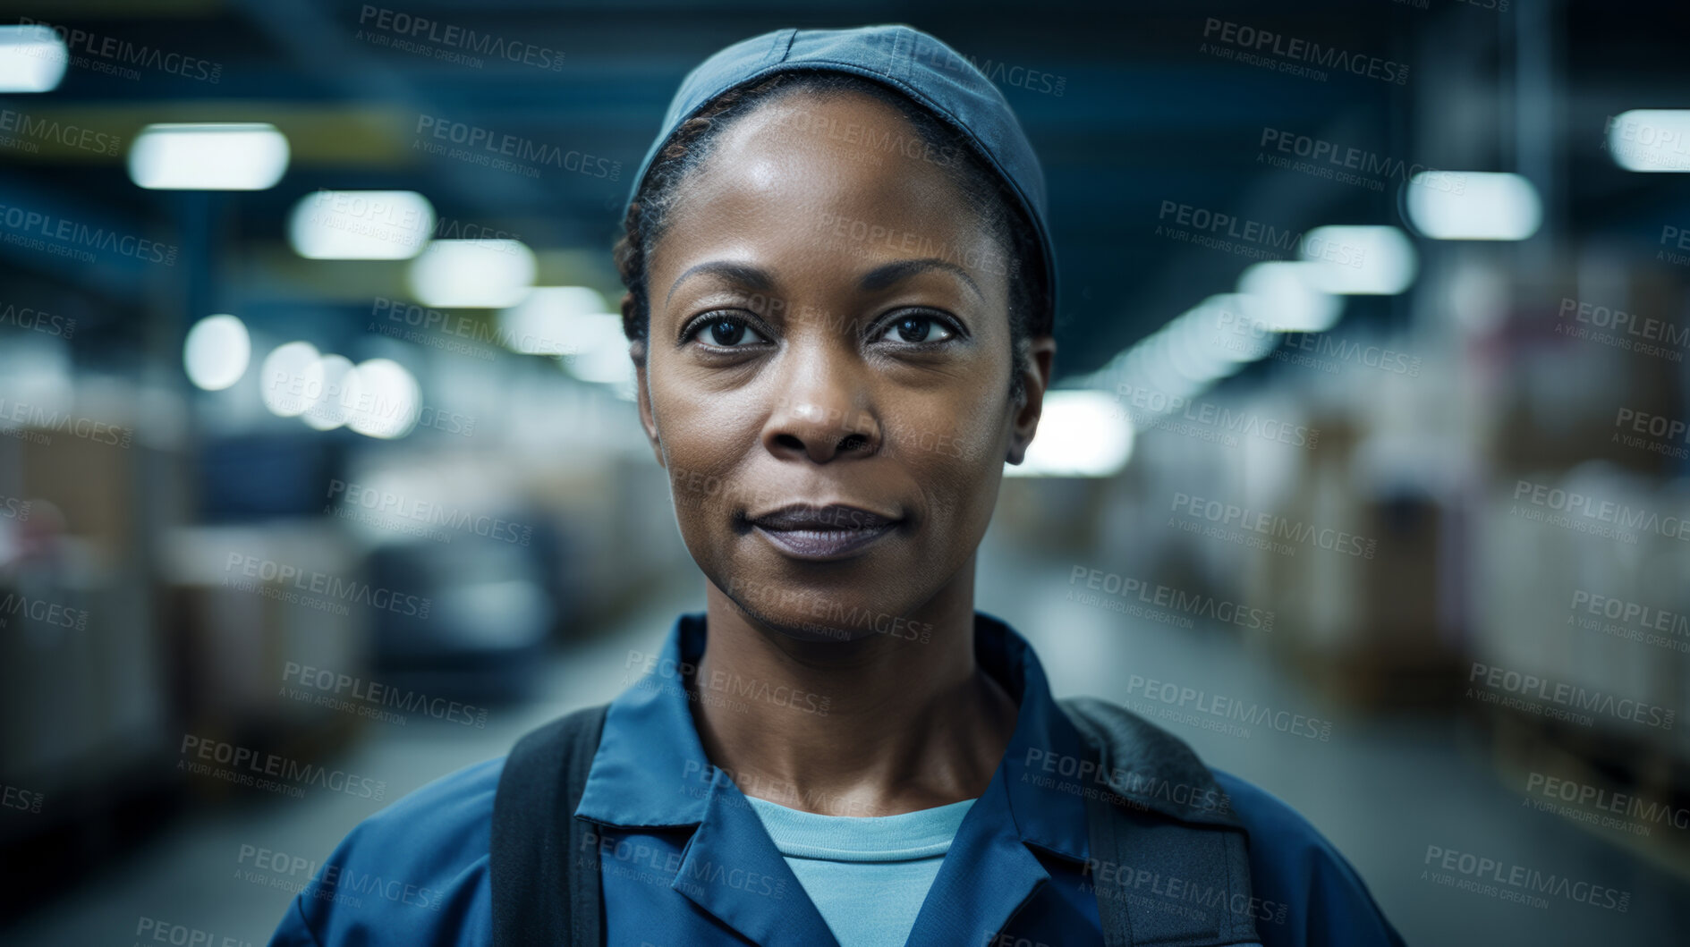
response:
<path fill-rule="evenodd" d="M 745 795 L 826 815 L 977 798 L 1017 709 L 973 657 L 973 560 L 909 618 L 924 641 L 799 640 L 706 584 L 705 655 L 688 689 L 710 761 Z"/>

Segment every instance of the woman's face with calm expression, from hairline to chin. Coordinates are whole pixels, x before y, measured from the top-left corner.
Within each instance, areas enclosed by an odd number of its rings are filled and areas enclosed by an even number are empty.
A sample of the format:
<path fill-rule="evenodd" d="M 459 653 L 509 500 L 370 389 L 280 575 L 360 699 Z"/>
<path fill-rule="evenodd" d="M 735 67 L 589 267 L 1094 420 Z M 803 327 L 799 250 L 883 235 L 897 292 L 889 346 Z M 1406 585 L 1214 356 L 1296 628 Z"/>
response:
<path fill-rule="evenodd" d="M 639 403 L 681 537 L 782 633 L 921 638 L 1038 424 L 1053 344 L 1012 403 L 1011 262 L 951 159 L 794 93 L 722 132 L 651 252 Z"/>

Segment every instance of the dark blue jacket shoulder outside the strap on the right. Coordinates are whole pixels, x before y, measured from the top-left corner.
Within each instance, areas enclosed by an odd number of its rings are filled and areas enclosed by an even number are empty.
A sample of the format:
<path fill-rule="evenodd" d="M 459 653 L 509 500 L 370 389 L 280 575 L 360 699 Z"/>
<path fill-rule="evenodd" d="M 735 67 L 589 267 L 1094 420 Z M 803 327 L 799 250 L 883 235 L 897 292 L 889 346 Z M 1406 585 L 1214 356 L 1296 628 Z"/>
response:
<path fill-rule="evenodd" d="M 1210 770 L 1249 834 L 1262 944 L 1401 947 L 1355 868 L 1308 819 L 1268 790 Z"/>

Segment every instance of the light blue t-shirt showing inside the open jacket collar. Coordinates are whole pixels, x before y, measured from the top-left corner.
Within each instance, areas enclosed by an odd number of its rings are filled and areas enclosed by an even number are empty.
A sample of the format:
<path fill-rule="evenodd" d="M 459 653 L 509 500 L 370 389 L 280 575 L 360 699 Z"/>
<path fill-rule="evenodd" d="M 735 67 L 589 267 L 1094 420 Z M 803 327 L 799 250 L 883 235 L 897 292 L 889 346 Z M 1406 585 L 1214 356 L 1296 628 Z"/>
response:
<path fill-rule="evenodd" d="M 840 947 L 902 947 L 972 798 L 897 815 L 818 815 L 750 800 Z"/>

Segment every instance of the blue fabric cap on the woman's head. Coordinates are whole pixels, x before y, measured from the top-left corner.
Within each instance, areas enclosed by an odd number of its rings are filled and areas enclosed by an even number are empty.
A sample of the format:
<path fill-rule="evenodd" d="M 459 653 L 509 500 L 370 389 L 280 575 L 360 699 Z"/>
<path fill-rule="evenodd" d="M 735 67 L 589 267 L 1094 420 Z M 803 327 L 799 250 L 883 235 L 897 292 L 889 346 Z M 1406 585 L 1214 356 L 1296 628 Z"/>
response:
<path fill-rule="evenodd" d="M 1039 159 L 997 86 L 962 54 L 913 27 L 784 29 L 744 39 L 705 59 L 674 93 L 669 113 L 662 118 L 662 132 L 634 176 L 629 203 L 639 196 L 646 172 L 674 130 L 713 98 L 776 73 L 816 71 L 852 73 L 909 96 L 960 132 L 987 165 L 1009 182 L 1038 231 L 1044 255 L 1048 312 L 1034 322 L 1051 326 L 1056 314 L 1056 250 L 1046 223 L 1044 170 Z"/>

